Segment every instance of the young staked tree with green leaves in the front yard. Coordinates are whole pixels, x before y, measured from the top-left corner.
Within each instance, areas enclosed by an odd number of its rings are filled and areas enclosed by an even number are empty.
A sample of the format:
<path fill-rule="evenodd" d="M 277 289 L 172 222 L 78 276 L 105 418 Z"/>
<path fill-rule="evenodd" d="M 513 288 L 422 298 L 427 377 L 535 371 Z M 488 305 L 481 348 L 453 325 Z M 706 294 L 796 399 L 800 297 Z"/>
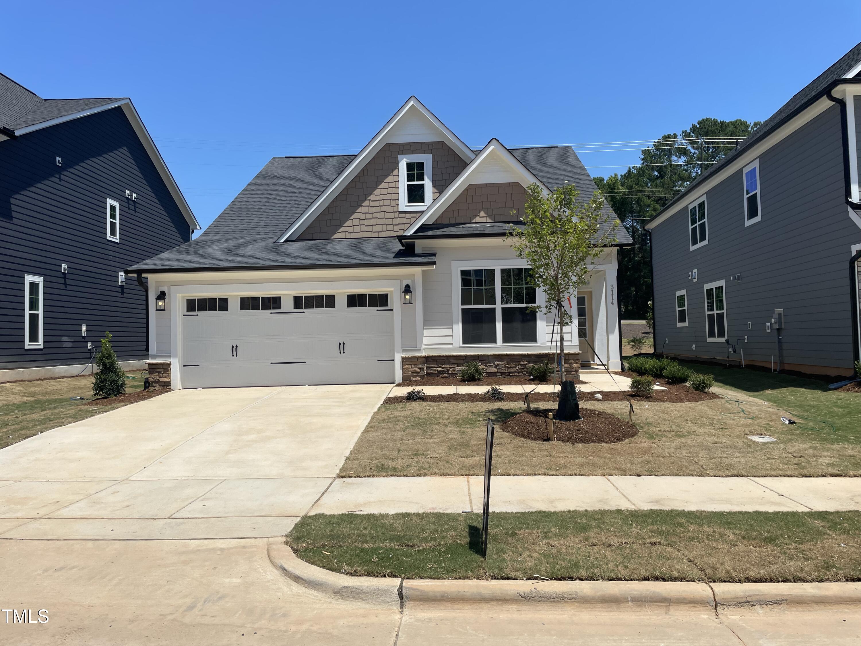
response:
<path fill-rule="evenodd" d="M 532 268 L 532 280 L 542 289 L 546 303 L 544 314 L 556 314 L 559 322 L 559 342 L 562 356 L 562 392 L 557 419 L 567 420 L 563 399 L 573 401 L 573 418 L 579 418 L 577 390 L 565 379 L 565 326 L 572 316 L 562 303 L 576 294 L 589 274 L 589 264 L 616 242 L 619 221 L 610 219 L 604 211 L 604 198 L 596 192 L 591 200 L 583 201 L 579 190 L 566 183 L 547 193 L 536 183 L 526 187 L 523 228 L 511 227 L 507 238 L 517 258 L 526 260 Z M 604 225 L 604 226 L 602 226 Z"/>

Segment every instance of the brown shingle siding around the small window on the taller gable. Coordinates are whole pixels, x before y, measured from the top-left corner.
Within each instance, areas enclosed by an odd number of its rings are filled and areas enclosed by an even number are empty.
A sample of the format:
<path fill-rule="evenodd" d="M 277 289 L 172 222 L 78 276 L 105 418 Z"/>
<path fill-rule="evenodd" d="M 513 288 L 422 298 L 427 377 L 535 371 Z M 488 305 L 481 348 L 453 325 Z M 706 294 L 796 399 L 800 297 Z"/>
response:
<path fill-rule="evenodd" d="M 417 154 L 433 156 L 434 199 L 467 167 L 467 162 L 442 141 L 386 144 L 298 239 L 375 238 L 404 233 L 421 213 L 398 210 L 398 156 Z"/>

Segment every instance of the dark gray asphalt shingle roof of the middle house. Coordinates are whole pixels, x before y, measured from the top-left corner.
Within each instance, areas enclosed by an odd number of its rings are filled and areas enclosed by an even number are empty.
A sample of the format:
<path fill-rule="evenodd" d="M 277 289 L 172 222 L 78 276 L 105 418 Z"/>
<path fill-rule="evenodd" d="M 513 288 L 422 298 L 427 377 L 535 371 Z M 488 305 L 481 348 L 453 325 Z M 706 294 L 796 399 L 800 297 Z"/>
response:
<path fill-rule="evenodd" d="M 596 190 L 592 177 L 571 147 L 521 148 L 511 152 L 548 188 L 567 180 L 584 196 L 592 196 Z M 136 264 L 130 270 L 299 269 L 433 263 L 434 254 L 416 256 L 403 252 L 397 238 L 276 242 L 352 158 L 354 155 L 270 159 L 200 236 Z M 606 211 L 608 219 L 616 218 L 609 206 Z M 493 227 L 463 231 L 499 235 Z M 628 233 L 621 227 L 617 237 L 621 244 L 630 243 Z"/>

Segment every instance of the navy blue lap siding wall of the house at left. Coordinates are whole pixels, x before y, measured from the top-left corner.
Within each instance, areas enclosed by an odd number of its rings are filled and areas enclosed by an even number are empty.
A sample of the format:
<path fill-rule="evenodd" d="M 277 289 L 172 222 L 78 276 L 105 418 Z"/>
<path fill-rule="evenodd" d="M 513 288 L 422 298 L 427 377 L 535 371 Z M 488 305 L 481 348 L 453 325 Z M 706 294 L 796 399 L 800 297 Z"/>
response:
<path fill-rule="evenodd" d="M 107 239 L 108 197 L 119 243 Z M 146 357 L 144 292 L 118 272 L 191 233 L 121 108 L 0 142 L 0 227 L 0 367 L 87 363 L 87 341 L 98 349 L 106 331 L 121 359 Z M 23 347 L 25 274 L 45 279 L 42 350 Z"/>

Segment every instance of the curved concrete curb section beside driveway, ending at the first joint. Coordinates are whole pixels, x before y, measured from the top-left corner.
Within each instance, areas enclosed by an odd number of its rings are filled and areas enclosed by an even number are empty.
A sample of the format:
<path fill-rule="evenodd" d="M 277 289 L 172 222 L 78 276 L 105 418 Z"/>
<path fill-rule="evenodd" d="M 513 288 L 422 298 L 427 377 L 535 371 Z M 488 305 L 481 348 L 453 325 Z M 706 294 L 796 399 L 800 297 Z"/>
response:
<path fill-rule="evenodd" d="M 284 538 L 270 538 L 269 562 L 290 581 L 334 599 L 400 608 L 400 579 L 339 575 L 302 561 Z"/>

